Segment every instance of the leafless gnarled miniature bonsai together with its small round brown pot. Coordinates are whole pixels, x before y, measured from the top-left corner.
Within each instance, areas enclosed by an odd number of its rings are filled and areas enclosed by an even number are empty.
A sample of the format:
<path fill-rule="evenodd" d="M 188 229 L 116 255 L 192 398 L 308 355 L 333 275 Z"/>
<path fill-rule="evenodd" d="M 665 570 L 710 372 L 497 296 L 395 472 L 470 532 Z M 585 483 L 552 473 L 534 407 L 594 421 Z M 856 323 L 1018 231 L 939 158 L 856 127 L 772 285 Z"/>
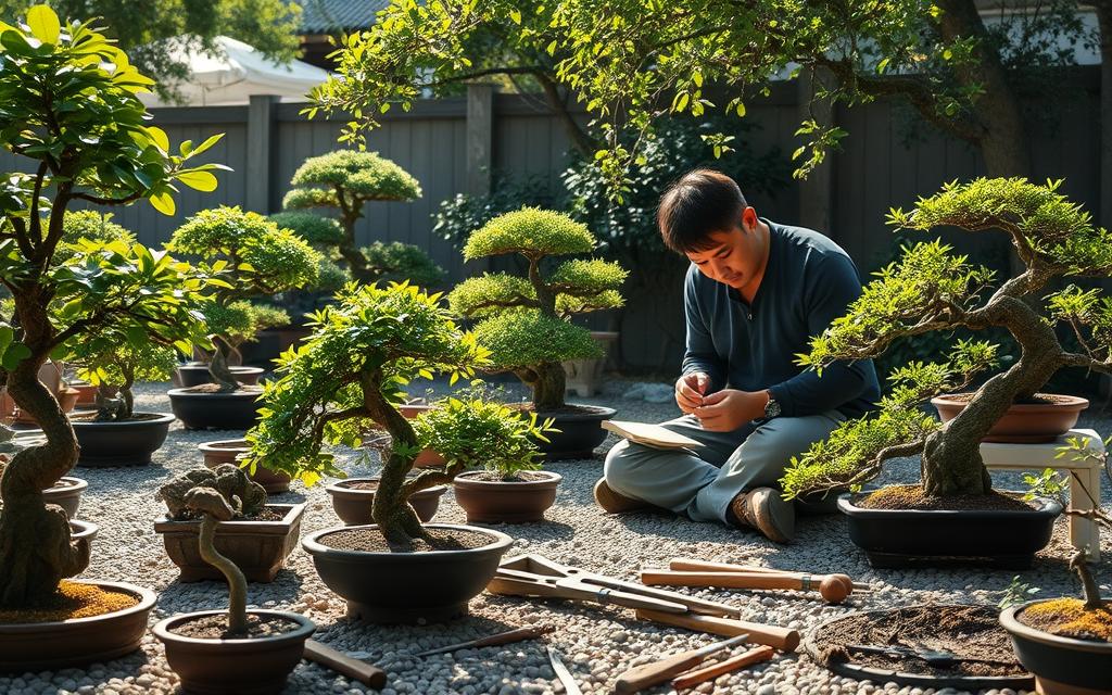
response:
<path fill-rule="evenodd" d="M 254 486 L 254 487 L 252 487 Z M 247 609 L 247 577 L 219 548 L 218 528 L 266 500 L 261 487 L 235 466 L 196 470 L 159 493 L 172 516 L 199 518 L 197 552 L 228 582 L 228 609 L 176 615 L 152 632 L 186 692 L 277 693 L 305 653 L 316 626 L 288 610 Z"/>

